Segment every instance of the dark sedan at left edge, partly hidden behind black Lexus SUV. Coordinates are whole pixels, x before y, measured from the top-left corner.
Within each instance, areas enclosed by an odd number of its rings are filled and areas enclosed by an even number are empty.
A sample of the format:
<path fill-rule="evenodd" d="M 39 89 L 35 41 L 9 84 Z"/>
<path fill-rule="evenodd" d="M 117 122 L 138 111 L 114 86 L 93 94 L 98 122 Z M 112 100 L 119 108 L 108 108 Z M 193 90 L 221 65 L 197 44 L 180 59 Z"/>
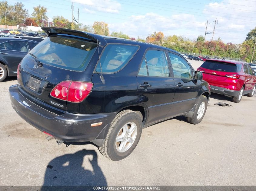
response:
<path fill-rule="evenodd" d="M 16 76 L 17 68 L 24 56 L 38 42 L 19 38 L 0 38 L 0 82 L 7 76 Z"/>

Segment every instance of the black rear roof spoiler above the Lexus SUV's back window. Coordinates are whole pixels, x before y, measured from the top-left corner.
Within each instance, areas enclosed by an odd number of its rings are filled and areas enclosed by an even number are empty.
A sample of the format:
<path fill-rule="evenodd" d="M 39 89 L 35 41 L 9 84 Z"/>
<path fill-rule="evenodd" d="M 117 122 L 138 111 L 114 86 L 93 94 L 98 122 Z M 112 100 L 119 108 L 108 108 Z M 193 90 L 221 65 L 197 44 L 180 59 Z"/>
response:
<path fill-rule="evenodd" d="M 57 28 L 57 27 L 42 27 L 42 30 L 44 30 L 48 36 L 51 36 L 52 34 L 70 34 L 70 35 L 75 35 L 78 37 L 85 37 L 88 38 L 95 43 L 97 43 L 99 46 L 106 46 L 107 41 L 98 34 L 93 34 L 93 33 L 87 33 L 79 30 L 71 30 L 71 29 L 64 29 L 64 28 Z"/>

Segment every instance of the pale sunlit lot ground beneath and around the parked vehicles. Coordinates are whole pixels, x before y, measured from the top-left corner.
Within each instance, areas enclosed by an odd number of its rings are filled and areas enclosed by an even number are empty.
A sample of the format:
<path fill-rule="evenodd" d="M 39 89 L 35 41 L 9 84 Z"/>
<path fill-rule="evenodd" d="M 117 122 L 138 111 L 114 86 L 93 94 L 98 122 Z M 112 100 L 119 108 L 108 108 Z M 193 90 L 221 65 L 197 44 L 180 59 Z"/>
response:
<path fill-rule="evenodd" d="M 256 185 L 255 95 L 233 103 L 212 94 L 201 123 L 177 117 L 143 129 L 133 153 L 114 162 L 90 143 L 47 141 L 12 109 L 16 83 L 0 83 L 0 185 Z"/>

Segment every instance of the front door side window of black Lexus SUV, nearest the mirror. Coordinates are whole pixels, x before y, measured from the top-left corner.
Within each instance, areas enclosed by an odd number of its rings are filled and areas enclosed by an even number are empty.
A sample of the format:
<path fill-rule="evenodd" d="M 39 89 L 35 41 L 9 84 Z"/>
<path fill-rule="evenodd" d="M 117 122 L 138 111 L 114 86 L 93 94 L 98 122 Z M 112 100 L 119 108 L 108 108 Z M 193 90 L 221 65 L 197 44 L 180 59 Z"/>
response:
<path fill-rule="evenodd" d="M 191 68 L 183 58 L 173 53 L 168 53 L 168 56 L 171 59 L 174 78 L 192 78 Z"/>

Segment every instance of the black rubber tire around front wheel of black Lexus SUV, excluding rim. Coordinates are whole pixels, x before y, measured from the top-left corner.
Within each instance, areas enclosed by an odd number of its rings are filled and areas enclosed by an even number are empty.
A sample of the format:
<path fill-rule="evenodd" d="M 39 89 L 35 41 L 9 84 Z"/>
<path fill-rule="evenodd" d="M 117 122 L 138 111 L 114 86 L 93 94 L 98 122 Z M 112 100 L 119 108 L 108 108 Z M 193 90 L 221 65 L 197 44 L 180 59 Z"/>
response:
<path fill-rule="evenodd" d="M 197 118 L 198 116 L 198 110 L 200 109 L 200 105 L 204 102 L 204 113 L 203 115 L 201 116 L 200 119 Z M 204 95 L 201 95 L 201 97 L 199 98 L 198 102 L 196 103 L 196 106 L 195 106 L 195 109 L 194 109 L 194 113 L 191 117 L 187 117 L 187 121 L 188 123 L 191 123 L 191 124 L 198 124 L 202 121 L 202 119 L 204 118 L 204 115 L 205 115 L 205 112 L 206 112 L 206 109 L 207 109 L 207 105 L 208 105 L 208 99 L 206 96 Z"/>

